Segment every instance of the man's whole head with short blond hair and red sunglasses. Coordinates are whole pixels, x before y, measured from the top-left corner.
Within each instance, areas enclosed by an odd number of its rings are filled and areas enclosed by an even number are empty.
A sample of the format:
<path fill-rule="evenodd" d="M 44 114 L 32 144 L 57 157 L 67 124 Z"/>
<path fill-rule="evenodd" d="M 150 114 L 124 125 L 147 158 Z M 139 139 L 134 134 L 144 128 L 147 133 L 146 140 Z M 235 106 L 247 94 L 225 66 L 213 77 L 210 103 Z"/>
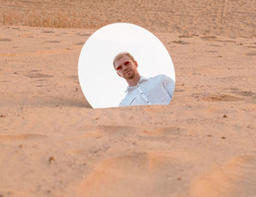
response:
<path fill-rule="evenodd" d="M 132 80 L 138 74 L 138 63 L 127 52 L 119 53 L 113 60 L 117 74 L 125 80 Z"/>

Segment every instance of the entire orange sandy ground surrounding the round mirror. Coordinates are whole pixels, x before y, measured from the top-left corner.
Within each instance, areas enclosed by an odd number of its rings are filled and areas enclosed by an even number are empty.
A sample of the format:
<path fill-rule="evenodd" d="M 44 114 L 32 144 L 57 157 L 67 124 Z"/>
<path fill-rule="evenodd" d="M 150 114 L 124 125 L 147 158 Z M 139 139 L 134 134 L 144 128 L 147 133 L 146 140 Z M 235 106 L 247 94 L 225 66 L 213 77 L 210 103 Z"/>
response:
<path fill-rule="evenodd" d="M 256 196 L 255 7 L 1 1 L 0 196 Z M 92 109 L 84 98 L 80 50 L 116 22 L 167 47 L 170 105 Z"/>

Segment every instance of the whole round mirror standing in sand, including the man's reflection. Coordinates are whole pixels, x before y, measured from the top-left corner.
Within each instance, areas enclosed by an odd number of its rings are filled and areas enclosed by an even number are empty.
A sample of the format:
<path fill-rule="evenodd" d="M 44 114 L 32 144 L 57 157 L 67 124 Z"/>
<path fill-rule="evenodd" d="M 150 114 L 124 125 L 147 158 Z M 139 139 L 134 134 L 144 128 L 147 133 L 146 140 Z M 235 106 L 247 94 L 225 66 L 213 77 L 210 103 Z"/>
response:
<path fill-rule="evenodd" d="M 93 108 L 170 104 L 175 89 L 165 46 L 150 31 L 130 23 L 104 26 L 87 39 L 78 78 Z"/>

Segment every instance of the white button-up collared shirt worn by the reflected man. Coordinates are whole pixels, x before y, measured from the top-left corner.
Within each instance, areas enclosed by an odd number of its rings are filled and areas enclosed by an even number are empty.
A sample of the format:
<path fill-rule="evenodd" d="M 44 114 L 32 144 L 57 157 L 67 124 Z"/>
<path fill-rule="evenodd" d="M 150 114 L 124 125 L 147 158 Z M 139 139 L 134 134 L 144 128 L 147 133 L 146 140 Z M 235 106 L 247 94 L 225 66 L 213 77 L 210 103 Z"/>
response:
<path fill-rule="evenodd" d="M 175 82 L 165 74 L 146 78 L 140 76 L 137 85 L 127 87 L 126 96 L 120 102 L 121 106 L 170 104 L 173 97 Z"/>

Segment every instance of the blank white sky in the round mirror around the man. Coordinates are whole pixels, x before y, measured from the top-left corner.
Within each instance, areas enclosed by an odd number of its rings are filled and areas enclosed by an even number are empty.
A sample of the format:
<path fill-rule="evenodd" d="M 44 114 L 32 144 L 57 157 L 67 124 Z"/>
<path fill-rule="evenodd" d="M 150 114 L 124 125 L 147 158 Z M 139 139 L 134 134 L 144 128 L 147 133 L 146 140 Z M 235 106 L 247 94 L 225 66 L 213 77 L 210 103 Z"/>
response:
<path fill-rule="evenodd" d="M 91 107 L 117 107 L 124 99 L 128 84 L 113 68 L 113 58 L 124 51 L 138 62 L 140 76 L 165 74 L 175 82 L 173 61 L 157 36 L 134 24 L 113 23 L 95 31 L 80 53 L 78 78 Z"/>

